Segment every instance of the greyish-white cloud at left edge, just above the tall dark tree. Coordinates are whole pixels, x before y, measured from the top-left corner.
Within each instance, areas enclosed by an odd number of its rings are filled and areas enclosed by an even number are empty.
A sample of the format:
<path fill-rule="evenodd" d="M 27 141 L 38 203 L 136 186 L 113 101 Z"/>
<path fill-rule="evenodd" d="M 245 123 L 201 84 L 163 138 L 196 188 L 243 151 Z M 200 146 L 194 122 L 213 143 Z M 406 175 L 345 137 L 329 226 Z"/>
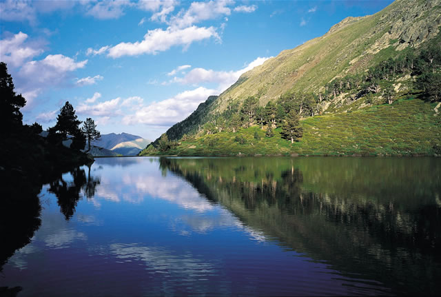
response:
<path fill-rule="evenodd" d="M 25 60 L 32 59 L 43 52 L 40 48 L 24 45 L 28 34 L 19 32 L 10 39 L 0 40 L 0 60 L 14 67 L 19 67 Z"/>

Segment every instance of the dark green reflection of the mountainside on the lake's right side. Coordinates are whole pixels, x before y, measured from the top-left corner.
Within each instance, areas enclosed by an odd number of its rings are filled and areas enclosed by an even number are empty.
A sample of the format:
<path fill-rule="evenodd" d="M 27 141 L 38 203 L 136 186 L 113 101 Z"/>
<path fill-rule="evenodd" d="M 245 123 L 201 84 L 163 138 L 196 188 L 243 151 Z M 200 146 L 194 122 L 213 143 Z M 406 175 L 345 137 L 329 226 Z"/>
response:
<path fill-rule="evenodd" d="M 252 158 L 231 166 L 227 159 L 167 158 L 161 166 L 252 229 L 346 276 L 379 280 L 397 292 L 435 294 L 440 162 L 362 158 L 342 164 L 346 160 Z"/>

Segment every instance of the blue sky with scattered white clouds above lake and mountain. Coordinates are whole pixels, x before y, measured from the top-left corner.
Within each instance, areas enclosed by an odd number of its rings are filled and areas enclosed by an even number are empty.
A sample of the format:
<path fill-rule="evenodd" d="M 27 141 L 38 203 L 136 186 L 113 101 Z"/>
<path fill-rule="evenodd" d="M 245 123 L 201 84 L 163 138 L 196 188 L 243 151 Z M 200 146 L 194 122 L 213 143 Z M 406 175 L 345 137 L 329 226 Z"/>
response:
<path fill-rule="evenodd" d="M 102 134 L 156 139 L 207 96 L 345 17 L 392 1 L 0 1 L 0 59 L 55 124 L 65 101 Z"/>

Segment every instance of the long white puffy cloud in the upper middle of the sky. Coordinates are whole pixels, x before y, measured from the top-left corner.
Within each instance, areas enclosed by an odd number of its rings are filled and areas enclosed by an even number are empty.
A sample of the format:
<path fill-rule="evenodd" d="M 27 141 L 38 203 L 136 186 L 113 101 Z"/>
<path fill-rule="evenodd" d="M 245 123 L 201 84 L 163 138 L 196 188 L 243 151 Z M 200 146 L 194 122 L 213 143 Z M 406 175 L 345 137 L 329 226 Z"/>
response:
<path fill-rule="evenodd" d="M 135 43 L 119 43 L 109 49 L 108 57 L 119 58 L 122 56 L 136 56 L 139 54 L 157 54 L 170 49 L 174 45 L 183 45 L 184 49 L 188 48 L 190 44 L 195 41 L 201 41 L 214 37 L 220 39 L 216 30 L 213 27 L 188 27 L 184 29 L 167 28 L 162 30 L 160 28 L 149 30 L 144 35 L 144 40 Z"/>

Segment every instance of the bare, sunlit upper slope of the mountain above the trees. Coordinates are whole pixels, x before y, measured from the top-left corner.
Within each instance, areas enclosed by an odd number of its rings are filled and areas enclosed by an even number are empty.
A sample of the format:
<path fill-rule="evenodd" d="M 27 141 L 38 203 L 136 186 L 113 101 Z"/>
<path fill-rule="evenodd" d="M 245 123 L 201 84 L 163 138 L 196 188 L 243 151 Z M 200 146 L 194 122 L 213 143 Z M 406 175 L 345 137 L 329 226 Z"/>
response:
<path fill-rule="evenodd" d="M 338 76 L 360 73 L 440 31 L 440 0 L 397 0 L 367 17 L 348 17 L 322 37 L 265 61 L 220 94 L 214 110 L 256 96 L 260 105 L 290 91 L 323 91 Z"/>

